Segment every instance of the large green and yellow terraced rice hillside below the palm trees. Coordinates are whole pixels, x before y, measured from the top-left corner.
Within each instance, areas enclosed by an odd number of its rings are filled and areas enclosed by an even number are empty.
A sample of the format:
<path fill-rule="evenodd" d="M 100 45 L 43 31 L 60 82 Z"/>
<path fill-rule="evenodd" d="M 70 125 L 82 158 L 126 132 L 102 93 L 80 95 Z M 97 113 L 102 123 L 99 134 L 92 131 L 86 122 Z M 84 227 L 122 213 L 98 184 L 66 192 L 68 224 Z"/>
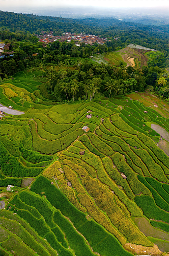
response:
<path fill-rule="evenodd" d="M 165 235 L 160 248 L 166 250 L 169 157 L 156 145 L 160 134 L 150 124 L 169 132 L 168 105 L 150 108 L 142 103 L 147 94 L 38 103 L 33 95 L 44 97 L 40 91 L 31 94 L 26 82 L 20 91 L 23 79 L 17 79 L 1 86 L 4 104 L 16 102 L 13 107 L 25 112 L 1 119 L 2 194 L 15 186 L 0 212 L 1 253 L 128 256 L 149 247 L 152 254 L 158 232 Z M 4 88 L 17 95 L 7 96 Z M 18 104 L 20 92 L 34 108 Z M 143 216 L 155 230 L 151 238 L 133 221 Z"/>

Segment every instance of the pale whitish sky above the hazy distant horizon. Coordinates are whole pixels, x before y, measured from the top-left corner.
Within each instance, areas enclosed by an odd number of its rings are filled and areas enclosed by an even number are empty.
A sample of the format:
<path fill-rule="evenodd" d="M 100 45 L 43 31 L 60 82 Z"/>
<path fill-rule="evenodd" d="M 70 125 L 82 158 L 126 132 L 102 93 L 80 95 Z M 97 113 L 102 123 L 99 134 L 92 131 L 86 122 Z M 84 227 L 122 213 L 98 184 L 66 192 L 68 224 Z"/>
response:
<path fill-rule="evenodd" d="M 12 11 L 25 7 L 105 7 L 105 8 L 154 8 L 168 7 L 168 0 L 1 0 L 0 9 Z"/>

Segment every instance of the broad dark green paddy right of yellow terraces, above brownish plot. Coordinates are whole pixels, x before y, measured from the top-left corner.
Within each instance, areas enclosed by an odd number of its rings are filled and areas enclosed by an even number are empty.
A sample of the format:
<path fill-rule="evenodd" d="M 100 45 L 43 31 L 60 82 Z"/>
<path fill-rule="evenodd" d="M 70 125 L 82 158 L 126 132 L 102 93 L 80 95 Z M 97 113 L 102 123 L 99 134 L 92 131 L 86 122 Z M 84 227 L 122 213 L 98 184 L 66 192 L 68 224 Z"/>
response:
<path fill-rule="evenodd" d="M 154 199 L 147 195 L 136 196 L 134 201 L 143 210 L 144 215 L 148 219 L 161 220 L 167 222 L 169 220 L 169 213 L 161 210 L 154 202 Z"/>

